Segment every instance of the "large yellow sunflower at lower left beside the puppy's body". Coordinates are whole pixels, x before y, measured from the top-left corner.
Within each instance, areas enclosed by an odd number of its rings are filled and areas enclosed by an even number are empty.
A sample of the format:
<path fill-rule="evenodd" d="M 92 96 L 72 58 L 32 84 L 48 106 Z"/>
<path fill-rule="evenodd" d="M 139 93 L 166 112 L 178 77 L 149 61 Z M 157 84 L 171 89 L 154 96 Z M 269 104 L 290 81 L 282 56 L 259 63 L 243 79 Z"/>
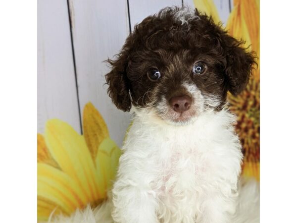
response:
<path fill-rule="evenodd" d="M 84 108 L 83 132 L 50 119 L 45 134 L 37 135 L 38 221 L 47 221 L 52 212 L 69 215 L 106 198 L 121 151 L 91 103 Z"/>

